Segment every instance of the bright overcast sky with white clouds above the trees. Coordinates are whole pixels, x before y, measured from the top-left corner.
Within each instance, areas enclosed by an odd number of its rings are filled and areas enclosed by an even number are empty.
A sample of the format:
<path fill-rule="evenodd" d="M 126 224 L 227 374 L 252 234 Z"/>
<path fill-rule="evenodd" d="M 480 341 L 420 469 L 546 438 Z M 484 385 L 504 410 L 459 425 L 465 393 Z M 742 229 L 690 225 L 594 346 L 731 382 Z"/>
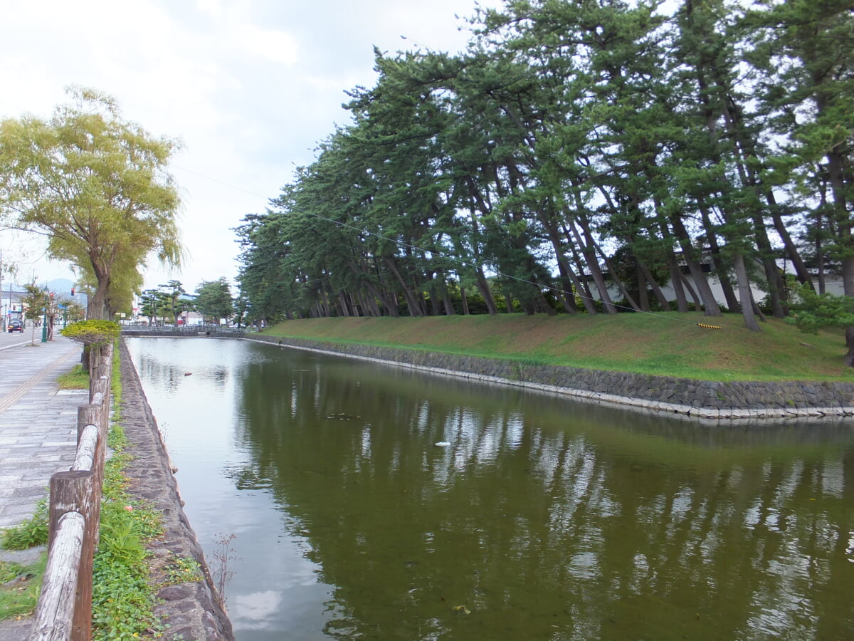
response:
<path fill-rule="evenodd" d="M 482 6 L 499 6 L 485 0 Z M 260 213 L 314 148 L 348 124 L 345 90 L 372 86 L 373 46 L 461 50 L 475 0 L 2 0 L 0 116 L 50 117 L 67 85 L 115 97 L 124 117 L 180 138 L 184 267 L 145 287 L 237 274 L 232 228 Z M 463 28 L 460 31 L 460 27 Z M 402 39 L 405 36 L 407 39 Z M 35 240 L 2 232 L 18 281 L 73 278 Z M 5 278 L 4 278 L 5 280 Z"/>

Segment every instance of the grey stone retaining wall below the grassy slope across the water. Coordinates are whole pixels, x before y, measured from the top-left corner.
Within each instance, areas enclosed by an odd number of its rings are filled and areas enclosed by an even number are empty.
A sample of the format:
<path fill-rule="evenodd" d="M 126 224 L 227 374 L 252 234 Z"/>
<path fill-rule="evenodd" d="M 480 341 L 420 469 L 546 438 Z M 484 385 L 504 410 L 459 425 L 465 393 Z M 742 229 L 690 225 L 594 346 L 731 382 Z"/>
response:
<path fill-rule="evenodd" d="M 320 354 L 349 356 L 445 376 L 516 385 L 559 396 L 701 419 L 854 415 L 854 383 L 676 379 L 264 334 L 246 338 Z"/>

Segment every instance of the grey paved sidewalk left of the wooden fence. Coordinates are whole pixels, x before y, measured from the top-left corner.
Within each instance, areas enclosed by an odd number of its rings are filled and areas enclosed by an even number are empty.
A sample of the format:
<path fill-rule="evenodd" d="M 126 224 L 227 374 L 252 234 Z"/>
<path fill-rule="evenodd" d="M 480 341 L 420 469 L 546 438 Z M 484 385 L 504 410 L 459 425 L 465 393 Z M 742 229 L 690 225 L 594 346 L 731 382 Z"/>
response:
<path fill-rule="evenodd" d="M 31 516 L 50 476 L 73 463 L 77 407 L 88 390 L 57 391 L 56 379 L 80 362 L 82 349 L 59 334 L 0 349 L 0 528 Z M 0 560 L 28 563 L 40 551 L 0 550 Z M 26 639 L 29 629 L 29 620 L 0 620 L 0 641 Z"/>

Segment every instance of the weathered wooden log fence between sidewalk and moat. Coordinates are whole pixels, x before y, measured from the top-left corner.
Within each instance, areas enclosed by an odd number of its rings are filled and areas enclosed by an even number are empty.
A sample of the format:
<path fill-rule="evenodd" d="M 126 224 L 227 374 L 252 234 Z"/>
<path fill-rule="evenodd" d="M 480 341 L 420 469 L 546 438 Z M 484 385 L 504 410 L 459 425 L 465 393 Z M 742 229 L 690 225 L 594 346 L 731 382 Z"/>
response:
<path fill-rule="evenodd" d="M 101 516 L 110 417 L 113 345 L 90 352 L 89 403 L 77 413 L 77 455 L 50 477 L 48 562 L 30 639 L 88 641 L 92 627 L 92 558 Z"/>

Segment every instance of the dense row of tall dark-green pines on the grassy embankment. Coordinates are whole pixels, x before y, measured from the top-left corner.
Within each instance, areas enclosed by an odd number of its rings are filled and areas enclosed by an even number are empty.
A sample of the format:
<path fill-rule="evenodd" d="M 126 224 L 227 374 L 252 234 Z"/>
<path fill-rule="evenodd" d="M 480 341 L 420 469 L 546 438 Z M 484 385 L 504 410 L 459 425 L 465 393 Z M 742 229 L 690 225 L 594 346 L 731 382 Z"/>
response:
<path fill-rule="evenodd" d="M 787 314 L 781 259 L 854 295 L 851 0 L 664 6 L 506 0 L 460 54 L 377 51 L 352 122 L 237 229 L 254 312 L 758 330 Z"/>

